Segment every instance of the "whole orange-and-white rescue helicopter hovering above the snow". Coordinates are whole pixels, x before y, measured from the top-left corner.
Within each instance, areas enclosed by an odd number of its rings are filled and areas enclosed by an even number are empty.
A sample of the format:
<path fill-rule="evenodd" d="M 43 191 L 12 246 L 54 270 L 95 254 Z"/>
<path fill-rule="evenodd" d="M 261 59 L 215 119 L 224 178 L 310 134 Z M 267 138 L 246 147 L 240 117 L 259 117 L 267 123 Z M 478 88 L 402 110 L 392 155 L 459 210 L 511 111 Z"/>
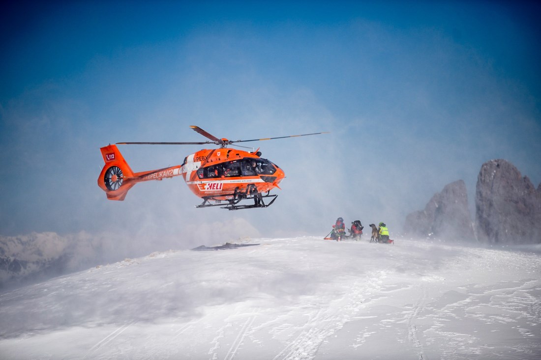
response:
<path fill-rule="evenodd" d="M 209 206 L 222 206 L 222 209 L 239 210 L 252 208 L 267 208 L 272 205 L 278 195 L 270 195 L 274 188 L 285 177 L 280 167 L 261 157 L 258 150 L 248 152 L 228 149 L 227 145 L 240 142 L 262 141 L 298 137 L 307 135 L 327 134 L 316 132 L 314 134 L 291 135 L 252 140 L 231 141 L 226 138 L 217 138 L 199 126 L 190 126 L 193 130 L 209 138 L 205 142 L 129 142 L 109 144 L 101 148 L 105 165 L 98 177 L 98 186 L 105 191 L 110 200 L 123 201 L 128 190 L 136 183 L 149 180 L 162 180 L 182 175 L 188 188 L 203 199 L 196 208 Z M 133 172 L 126 160 L 118 151 L 117 144 L 147 144 L 147 145 L 193 145 L 216 144 L 218 149 L 203 149 L 188 155 L 181 165 L 169 168 Z M 240 145 L 233 145 L 246 147 Z M 269 203 L 264 198 L 272 198 Z M 245 199 L 253 199 L 253 204 L 239 203 Z M 225 205 L 225 206 L 224 206 Z"/>

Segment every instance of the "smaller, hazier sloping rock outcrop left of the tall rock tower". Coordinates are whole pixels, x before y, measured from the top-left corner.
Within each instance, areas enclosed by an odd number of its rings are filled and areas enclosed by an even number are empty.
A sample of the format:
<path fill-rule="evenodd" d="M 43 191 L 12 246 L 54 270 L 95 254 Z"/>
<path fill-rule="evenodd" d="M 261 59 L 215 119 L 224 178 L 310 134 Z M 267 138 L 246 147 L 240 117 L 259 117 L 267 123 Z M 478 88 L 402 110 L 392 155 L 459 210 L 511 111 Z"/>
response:
<path fill-rule="evenodd" d="M 464 181 L 446 185 L 424 210 L 409 214 L 404 232 L 415 237 L 472 241 L 475 236 Z"/>

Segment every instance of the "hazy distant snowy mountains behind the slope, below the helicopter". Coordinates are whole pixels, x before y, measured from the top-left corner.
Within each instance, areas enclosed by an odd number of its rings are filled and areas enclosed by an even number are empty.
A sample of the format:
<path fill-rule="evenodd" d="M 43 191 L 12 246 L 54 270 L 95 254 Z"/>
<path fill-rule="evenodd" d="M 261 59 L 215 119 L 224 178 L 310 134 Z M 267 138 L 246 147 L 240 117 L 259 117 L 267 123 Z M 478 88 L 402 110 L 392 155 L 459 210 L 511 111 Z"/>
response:
<path fill-rule="evenodd" d="M 0 289 L 44 281 L 155 251 L 183 250 L 259 236 L 259 231 L 242 218 L 234 218 L 228 223 L 199 223 L 169 238 L 157 237 L 152 234 L 152 229 L 144 228 L 134 236 L 116 232 L 89 234 L 85 231 L 63 236 L 54 232 L 0 236 Z"/>

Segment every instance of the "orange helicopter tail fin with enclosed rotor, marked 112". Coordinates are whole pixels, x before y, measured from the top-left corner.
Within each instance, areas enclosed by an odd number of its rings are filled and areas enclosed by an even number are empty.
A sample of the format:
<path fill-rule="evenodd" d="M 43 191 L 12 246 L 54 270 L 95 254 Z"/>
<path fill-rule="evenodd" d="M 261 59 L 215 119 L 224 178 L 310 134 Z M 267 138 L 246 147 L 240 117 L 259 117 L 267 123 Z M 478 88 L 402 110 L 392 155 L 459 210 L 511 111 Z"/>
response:
<path fill-rule="evenodd" d="M 98 177 L 98 186 L 105 191 L 110 200 L 122 201 L 133 185 L 134 172 L 124 159 L 116 145 L 104 146 L 100 149 L 105 166 Z"/>

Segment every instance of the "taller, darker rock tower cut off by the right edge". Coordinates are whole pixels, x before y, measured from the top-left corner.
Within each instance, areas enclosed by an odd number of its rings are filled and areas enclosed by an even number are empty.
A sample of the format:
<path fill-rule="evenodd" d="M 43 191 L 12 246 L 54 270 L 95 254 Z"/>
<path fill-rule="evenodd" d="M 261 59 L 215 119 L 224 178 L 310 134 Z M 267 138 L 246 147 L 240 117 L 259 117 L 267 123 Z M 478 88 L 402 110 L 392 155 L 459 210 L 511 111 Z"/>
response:
<path fill-rule="evenodd" d="M 541 243 L 541 184 L 503 160 L 481 166 L 476 190 L 476 231 L 480 242 Z"/>

